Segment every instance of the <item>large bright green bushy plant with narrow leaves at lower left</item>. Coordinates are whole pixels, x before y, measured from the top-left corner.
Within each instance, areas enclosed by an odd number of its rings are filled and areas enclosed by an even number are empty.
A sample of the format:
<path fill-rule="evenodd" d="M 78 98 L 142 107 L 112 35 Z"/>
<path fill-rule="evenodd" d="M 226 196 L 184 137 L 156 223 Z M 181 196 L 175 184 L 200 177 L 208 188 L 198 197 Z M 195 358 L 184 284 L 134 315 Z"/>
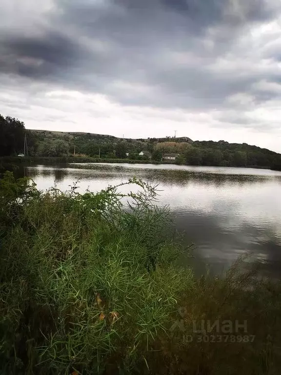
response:
<path fill-rule="evenodd" d="M 1 243 L 1 374 L 134 367 L 165 335 L 177 294 L 192 283 L 172 266 L 181 249 L 168 209 L 154 207 L 155 188 L 135 179 L 142 192 L 127 195 L 117 187 L 39 192 L 26 183 L 6 173 L 0 186 L 10 223 Z"/>

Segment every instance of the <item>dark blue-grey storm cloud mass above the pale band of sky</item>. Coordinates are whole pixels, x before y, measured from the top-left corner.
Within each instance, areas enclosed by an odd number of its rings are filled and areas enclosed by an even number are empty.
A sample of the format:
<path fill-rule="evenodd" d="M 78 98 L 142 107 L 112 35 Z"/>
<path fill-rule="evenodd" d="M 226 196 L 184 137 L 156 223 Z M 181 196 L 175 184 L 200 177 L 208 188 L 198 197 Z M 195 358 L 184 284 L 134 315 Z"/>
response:
<path fill-rule="evenodd" d="M 266 0 L 54 4 L 44 15 L 44 27 L 33 20 L 34 33 L 1 33 L 0 73 L 103 93 L 122 104 L 195 111 L 229 109 L 234 104 L 227 98 L 241 92 L 252 95 L 254 104 L 279 98 L 278 92 L 253 85 L 280 81 L 280 72 L 254 66 L 242 73 L 235 66 L 216 69 L 220 59 L 227 65 L 246 53 L 238 38 L 251 25 L 273 20 L 281 11 L 278 1 L 275 7 Z M 274 48 L 264 53 L 280 59 Z"/>

